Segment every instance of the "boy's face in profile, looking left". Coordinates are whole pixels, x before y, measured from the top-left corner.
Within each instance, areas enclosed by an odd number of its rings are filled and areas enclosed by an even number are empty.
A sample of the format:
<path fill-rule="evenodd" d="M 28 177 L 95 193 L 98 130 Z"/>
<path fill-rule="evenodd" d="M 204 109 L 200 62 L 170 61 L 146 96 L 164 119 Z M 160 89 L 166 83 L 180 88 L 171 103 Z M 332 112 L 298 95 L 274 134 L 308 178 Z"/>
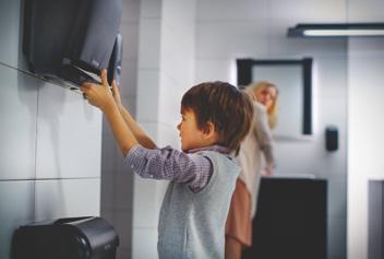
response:
<path fill-rule="evenodd" d="M 204 132 L 197 128 L 196 117 L 192 109 L 181 113 L 181 122 L 178 125 L 181 139 L 181 150 L 189 151 L 206 145 Z"/>

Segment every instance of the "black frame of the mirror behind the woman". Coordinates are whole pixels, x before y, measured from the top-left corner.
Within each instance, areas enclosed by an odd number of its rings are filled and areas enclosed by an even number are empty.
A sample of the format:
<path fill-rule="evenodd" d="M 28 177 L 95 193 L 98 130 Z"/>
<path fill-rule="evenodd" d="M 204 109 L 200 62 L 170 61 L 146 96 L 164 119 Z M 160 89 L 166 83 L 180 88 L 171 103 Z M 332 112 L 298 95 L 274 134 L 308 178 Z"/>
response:
<path fill-rule="evenodd" d="M 252 68 L 257 66 L 301 66 L 302 68 L 302 134 L 312 134 L 312 58 L 303 59 L 237 59 L 238 85 L 247 86 L 253 82 Z"/>

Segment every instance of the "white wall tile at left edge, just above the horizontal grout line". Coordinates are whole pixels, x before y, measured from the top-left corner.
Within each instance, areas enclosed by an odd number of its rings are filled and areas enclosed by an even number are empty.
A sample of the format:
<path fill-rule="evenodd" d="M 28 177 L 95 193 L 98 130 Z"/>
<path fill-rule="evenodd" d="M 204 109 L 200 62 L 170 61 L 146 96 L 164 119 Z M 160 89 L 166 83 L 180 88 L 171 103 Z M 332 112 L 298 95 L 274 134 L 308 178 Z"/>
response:
<path fill-rule="evenodd" d="M 0 64 L 0 179 L 35 177 L 39 81 Z"/>

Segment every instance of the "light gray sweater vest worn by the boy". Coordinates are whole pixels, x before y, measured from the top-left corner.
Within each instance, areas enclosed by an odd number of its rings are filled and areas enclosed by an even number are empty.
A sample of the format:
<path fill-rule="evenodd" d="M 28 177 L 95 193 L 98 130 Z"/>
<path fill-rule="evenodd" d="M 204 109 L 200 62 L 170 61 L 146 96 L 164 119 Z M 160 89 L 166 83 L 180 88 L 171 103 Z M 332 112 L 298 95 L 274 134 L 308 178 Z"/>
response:
<path fill-rule="evenodd" d="M 185 184 L 169 184 L 158 225 L 160 259 L 224 258 L 225 224 L 240 168 L 218 152 L 199 154 L 209 158 L 213 175 L 197 193 Z"/>

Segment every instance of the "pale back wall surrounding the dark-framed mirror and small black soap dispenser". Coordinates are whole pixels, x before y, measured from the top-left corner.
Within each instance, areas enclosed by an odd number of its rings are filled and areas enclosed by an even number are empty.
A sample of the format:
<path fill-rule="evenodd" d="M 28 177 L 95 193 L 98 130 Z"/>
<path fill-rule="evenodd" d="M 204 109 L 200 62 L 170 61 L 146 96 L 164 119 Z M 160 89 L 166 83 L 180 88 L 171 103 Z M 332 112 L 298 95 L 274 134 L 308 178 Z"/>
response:
<path fill-rule="evenodd" d="M 197 1 L 195 82 L 236 84 L 237 58 L 313 58 L 314 134 L 276 142 L 277 173 L 328 179 L 329 259 L 346 256 L 347 40 L 287 38 L 286 33 L 297 23 L 345 21 L 345 0 Z M 339 129 L 334 153 L 324 148 L 328 125 Z"/>

